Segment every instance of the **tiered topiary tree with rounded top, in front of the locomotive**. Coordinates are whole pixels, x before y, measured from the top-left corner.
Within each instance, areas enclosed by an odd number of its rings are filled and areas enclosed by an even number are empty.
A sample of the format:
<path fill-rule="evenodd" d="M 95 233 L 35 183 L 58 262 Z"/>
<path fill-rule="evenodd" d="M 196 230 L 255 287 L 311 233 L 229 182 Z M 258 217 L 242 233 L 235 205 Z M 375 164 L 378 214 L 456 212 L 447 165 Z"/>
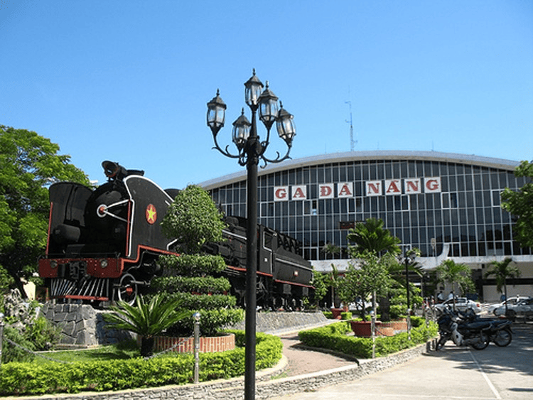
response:
<path fill-rule="evenodd" d="M 175 198 L 162 222 L 168 237 L 178 239 L 180 256 L 161 256 L 163 276 L 152 279 L 151 287 L 164 292 L 169 301 L 178 300 L 189 316 L 200 313 L 200 331 L 215 335 L 220 328 L 239 322 L 243 312 L 235 309 L 230 282 L 222 276 L 226 264 L 221 256 L 205 254 L 205 242 L 222 241 L 225 222 L 208 192 L 189 185 Z M 171 335 L 189 335 L 190 318 L 168 329 Z"/>

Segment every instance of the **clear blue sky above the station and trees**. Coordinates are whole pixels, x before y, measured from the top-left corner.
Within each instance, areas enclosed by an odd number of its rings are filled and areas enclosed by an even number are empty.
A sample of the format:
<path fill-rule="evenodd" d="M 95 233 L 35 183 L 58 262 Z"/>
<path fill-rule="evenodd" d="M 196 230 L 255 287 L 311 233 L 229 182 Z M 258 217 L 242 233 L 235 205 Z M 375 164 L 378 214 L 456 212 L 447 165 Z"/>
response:
<path fill-rule="evenodd" d="M 0 0 L 0 51 L 0 124 L 100 182 L 108 159 L 163 188 L 242 171 L 205 113 L 219 88 L 231 144 L 252 68 L 294 114 L 292 158 L 350 151 L 351 104 L 355 150 L 533 159 L 529 0 Z"/>

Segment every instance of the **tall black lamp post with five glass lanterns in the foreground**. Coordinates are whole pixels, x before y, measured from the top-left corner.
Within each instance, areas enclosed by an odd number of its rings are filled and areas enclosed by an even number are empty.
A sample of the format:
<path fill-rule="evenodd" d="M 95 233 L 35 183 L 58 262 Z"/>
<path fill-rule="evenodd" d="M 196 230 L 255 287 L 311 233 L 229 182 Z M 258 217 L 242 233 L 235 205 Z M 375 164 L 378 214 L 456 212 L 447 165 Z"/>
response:
<path fill-rule="evenodd" d="M 208 102 L 208 126 L 212 131 L 215 147 L 224 156 L 237 158 L 239 165 L 247 168 L 247 269 L 246 269 L 246 320 L 245 320 L 245 342 L 246 349 L 244 355 L 244 399 L 251 400 L 255 397 L 255 333 L 256 333 L 256 288 L 257 288 L 257 166 L 259 160 L 266 163 L 280 163 L 289 158 L 292 139 L 296 135 L 293 116 L 286 112 L 283 105 L 278 110 L 278 97 L 269 90 L 268 82 L 266 89 L 262 92 L 263 84 L 255 75 L 244 83 L 244 100 L 252 111 L 252 123 L 242 113 L 233 122 L 232 141 L 237 147 L 237 153 L 228 151 L 229 145 L 224 149 L 220 148 L 217 141 L 218 131 L 224 126 L 226 104 L 217 95 Z M 259 109 L 259 119 L 266 127 L 266 140 L 260 141 L 257 136 L 256 114 Z M 264 156 L 266 148 L 269 146 L 270 129 L 276 122 L 276 129 L 279 137 L 285 141 L 287 151 L 282 157 L 277 153 L 276 158 L 269 159 Z"/>

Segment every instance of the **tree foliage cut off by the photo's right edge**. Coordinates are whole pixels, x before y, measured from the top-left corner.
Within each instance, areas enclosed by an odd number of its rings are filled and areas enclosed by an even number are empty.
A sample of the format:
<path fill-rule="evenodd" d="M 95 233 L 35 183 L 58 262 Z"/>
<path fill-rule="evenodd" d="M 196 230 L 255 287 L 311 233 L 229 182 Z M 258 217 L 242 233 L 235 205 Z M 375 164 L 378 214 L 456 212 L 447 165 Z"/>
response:
<path fill-rule="evenodd" d="M 529 182 L 516 192 L 505 188 L 502 208 L 517 217 L 515 239 L 523 247 L 533 247 L 533 161 L 522 161 L 515 169 L 515 176 L 529 178 Z"/>

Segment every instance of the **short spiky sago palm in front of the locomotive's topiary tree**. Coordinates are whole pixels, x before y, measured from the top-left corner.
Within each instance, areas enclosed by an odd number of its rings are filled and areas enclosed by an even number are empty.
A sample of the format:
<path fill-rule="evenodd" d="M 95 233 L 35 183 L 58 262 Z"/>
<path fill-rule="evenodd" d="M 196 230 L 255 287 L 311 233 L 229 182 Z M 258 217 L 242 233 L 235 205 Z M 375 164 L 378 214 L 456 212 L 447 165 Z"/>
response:
<path fill-rule="evenodd" d="M 112 306 L 112 314 L 105 314 L 107 329 L 124 329 L 141 335 L 141 357 L 149 357 L 154 351 L 154 336 L 186 317 L 190 311 L 176 311 L 179 301 L 166 301 L 156 294 L 149 303 L 143 296 L 136 297 L 136 306 L 119 301 Z"/>

